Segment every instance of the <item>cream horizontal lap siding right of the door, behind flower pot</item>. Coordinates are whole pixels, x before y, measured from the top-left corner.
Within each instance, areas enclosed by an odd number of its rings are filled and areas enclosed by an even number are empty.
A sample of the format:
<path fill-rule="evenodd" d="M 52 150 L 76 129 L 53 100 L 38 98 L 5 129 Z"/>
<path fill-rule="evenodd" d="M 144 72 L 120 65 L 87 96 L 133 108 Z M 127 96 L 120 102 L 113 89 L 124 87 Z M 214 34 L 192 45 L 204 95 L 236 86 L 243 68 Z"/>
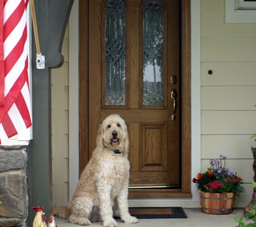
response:
<path fill-rule="evenodd" d="M 226 24 L 225 1 L 201 1 L 201 171 L 226 155 L 251 200 L 256 132 L 256 24 Z M 208 73 L 212 70 L 212 74 Z"/>

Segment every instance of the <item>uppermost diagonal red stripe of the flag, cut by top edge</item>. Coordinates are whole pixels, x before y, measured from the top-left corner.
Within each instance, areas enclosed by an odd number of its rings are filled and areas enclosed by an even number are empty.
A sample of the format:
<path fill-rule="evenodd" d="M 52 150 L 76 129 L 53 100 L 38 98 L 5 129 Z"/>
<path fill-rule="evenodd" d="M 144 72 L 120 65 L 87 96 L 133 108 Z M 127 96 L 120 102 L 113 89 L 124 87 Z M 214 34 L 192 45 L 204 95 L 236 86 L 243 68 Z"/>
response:
<path fill-rule="evenodd" d="M 12 15 L 6 20 L 4 24 L 4 39 L 6 39 L 13 29 L 17 26 L 17 24 L 20 22 L 20 19 L 22 19 L 22 16 L 24 14 L 24 1 L 20 1 L 18 7 L 13 11 Z"/>

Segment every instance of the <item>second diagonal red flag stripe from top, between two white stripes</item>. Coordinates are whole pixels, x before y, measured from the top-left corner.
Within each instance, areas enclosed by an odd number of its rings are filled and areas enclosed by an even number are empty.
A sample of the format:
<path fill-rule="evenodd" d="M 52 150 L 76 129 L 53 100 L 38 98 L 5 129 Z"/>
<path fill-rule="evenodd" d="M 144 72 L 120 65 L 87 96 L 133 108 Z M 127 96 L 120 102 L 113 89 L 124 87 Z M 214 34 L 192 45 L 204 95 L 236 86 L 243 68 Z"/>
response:
<path fill-rule="evenodd" d="M 8 75 L 12 67 L 20 58 L 24 51 L 24 42 L 27 39 L 26 29 L 23 31 L 22 38 L 18 41 L 17 45 L 12 49 L 10 54 L 5 58 L 5 75 Z"/>

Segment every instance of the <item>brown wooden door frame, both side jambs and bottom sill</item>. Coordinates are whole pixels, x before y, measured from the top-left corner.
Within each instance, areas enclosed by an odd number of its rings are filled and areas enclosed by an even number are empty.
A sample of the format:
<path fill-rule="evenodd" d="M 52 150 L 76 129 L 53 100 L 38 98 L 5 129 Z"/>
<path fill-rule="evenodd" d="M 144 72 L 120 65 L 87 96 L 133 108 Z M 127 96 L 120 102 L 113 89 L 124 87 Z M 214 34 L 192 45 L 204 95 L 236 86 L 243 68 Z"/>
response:
<path fill-rule="evenodd" d="M 181 0 L 181 189 L 132 189 L 129 197 L 191 194 L 191 0 Z M 88 1 L 79 1 L 79 176 L 88 158 Z M 82 127 L 82 125 L 85 125 Z M 145 193 L 147 190 L 147 193 Z"/>

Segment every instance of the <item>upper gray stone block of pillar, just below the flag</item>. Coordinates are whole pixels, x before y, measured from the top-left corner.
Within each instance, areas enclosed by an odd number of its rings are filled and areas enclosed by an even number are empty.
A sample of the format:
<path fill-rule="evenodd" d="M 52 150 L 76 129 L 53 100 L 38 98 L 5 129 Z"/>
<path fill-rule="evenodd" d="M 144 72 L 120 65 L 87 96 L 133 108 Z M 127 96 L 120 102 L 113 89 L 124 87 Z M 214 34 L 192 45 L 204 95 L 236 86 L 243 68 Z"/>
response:
<path fill-rule="evenodd" d="M 0 172 L 9 169 L 25 168 L 27 165 L 27 153 L 25 149 L 5 150 L 0 148 Z"/>

